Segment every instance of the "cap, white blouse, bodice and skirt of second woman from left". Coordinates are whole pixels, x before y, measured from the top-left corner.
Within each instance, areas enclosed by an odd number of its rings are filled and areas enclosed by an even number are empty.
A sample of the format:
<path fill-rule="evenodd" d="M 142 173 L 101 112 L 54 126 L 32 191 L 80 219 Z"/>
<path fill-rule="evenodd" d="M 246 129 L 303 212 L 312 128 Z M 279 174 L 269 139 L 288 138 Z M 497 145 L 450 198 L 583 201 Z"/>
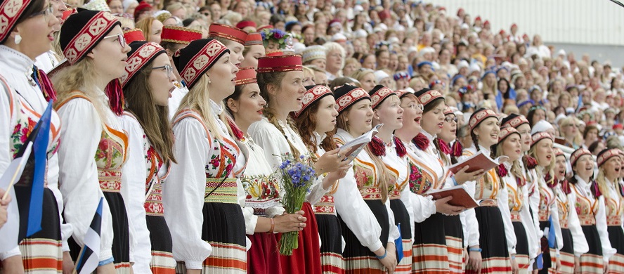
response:
<path fill-rule="evenodd" d="M 79 63 L 117 25 L 121 23 L 104 11 L 83 10 L 71 15 L 60 34 L 60 47 L 67 62 Z M 122 197 L 122 192 L 128 191 L 122 187 L 122 166 L 128 148 L 128 136 L 118 120 L 122 100 L 118 93 L 96 86 L 84 88 L 94 89 L 98 96 L 91 98 L 83 91 L 72 91 L 55 105 L 65 125 L 58 148 L 59 185 L 65 202 L 63 216 L 73 228 L 70 253 L 76 260 L 103 196 L 100 266 L 112 262 L 117 273 L 129 273 L 134 244 Z M 98 113 L 94 105 L 100 106 L 103 113 Z"/>

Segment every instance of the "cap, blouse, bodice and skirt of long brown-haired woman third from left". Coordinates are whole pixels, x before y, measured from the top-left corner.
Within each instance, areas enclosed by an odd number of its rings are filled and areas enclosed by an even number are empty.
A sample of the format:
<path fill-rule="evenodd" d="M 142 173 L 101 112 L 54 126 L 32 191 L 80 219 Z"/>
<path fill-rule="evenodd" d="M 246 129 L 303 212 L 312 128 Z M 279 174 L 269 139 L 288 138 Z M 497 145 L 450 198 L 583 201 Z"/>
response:
<path fill-rule="evenodd" d="M 134 77 L 150 67 L 152 61 L 166 54 L 155 43 L 134 41 L 130 44 L 126 73 L 122 77 L 123 89 L 128 89 Z M 124 197 L 136 235 L 134 249 L 134 273 L 175 273 L 176 261 L 169 226 L 164 220 L 162 206 L 162 182 L 169 172 L 169 163 L 164 162 L 160 152 L 145 136 L 141 122 L 134 113 L 124 111 L 120 118 L 122 128 L 128 132 L 128 160 L 122 172 L 122 184 L 129 188 Z"/>

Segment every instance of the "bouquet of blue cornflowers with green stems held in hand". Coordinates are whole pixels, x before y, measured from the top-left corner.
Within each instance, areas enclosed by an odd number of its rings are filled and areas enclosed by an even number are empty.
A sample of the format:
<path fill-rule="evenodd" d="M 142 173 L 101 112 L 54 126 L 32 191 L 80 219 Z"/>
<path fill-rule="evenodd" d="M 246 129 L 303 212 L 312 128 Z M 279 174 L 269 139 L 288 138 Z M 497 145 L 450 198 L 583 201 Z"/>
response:
<path fill-rule="evenodd" d="M 304 155 L 296 159 L 287 153 L 282 155 L 282 159 L 283 162 L 280 164 L 280 169 L 278 170 L 284 183 L 285 194 L 284 197 L 282 197 L 282 205 L 287 213 L 292 214 L 301 210 L 301 206 L 306 199 L 306 194 L 313 181 L 316 179 L 316 172 L 307 164 L 310 161 L 306 159 Z M 299 231 L 282 233 L 280 239 L 280 254 L 292 255 L 292 249 L 299 247 L 297 237 L 299 237 Z"/>

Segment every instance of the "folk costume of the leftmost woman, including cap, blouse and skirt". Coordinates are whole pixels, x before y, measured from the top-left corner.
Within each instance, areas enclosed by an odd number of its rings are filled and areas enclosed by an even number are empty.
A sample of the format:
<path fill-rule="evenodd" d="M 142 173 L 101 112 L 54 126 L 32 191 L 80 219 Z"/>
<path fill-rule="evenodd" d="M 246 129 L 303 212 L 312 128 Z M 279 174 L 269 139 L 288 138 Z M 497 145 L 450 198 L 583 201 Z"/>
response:
<path fill-rule="evenodd" d="M 7 14 L 8 5 L 16 4 L 22 7 L 18 12 Z M 3 1 L 0 10 L 6 19 L 7 25 L 0 32 L 0 107 L 3 127 L 0 143 L 6 148 L 0 153 L 0 171 L 4 173 L 13 158 L 25 145 L 27 138 L 34 130 L 35 124 L 41 119 L 48 101 L 56 100 L 56 93 L 44 72 L 34 66 L 34 60 L 20 51 L 4 46 L 9 34 L 13 31 L 18 20 L 34 1 Z M 44 174 L 43 200 L 39 205 L 41 214 L 41 230 L 25 237 L 14 249 L 0 253 L 0 261 L 12 256 L 21 256 L 24 270 L 27 273 L 44 273 L 45 271 L 62 270 L 63 250 L 67 247 L 67 238 L 71 235 L 71 226 L 62 225 L 63 196 L 58 190 L 58 144 L 61 122 L 58 114 L 52 111 L 46 150 L 46 167 Z M 39 132 L 43 133 L 43 132 Z M 32 148 L 35 153 L 35 148 Z M 16 200 L 20 211 L 28 210 L 31 206 L 30 197 L 33 167 L 26 167 L 24 176 L 15 182 L 11 197 Z M 9 220 L 10 222 L 11 220 Z M 6 235 L 5 235 L 6 236 Z M 20 235 L 24 237 L 25 235 Z"/>

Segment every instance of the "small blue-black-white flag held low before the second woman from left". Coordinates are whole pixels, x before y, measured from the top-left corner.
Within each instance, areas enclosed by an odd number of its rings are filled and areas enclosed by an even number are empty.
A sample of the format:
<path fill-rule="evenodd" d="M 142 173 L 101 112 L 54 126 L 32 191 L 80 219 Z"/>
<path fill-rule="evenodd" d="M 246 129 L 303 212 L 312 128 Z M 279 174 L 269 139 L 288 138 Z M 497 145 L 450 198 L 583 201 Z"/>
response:
<path fill-rule="evenodd" d="M 93 215 L 91 226 L 89 226 L 84 235 L 84 247 L 80 250 L 76 260 L 74 273 L 92 273 L 98 267 L 98 263 L 100 263 L 100 229 L 102 228 L 103 200 L 104 198 L 100 197 L 100 203 L 98 204 L 96 214 Z"/>

